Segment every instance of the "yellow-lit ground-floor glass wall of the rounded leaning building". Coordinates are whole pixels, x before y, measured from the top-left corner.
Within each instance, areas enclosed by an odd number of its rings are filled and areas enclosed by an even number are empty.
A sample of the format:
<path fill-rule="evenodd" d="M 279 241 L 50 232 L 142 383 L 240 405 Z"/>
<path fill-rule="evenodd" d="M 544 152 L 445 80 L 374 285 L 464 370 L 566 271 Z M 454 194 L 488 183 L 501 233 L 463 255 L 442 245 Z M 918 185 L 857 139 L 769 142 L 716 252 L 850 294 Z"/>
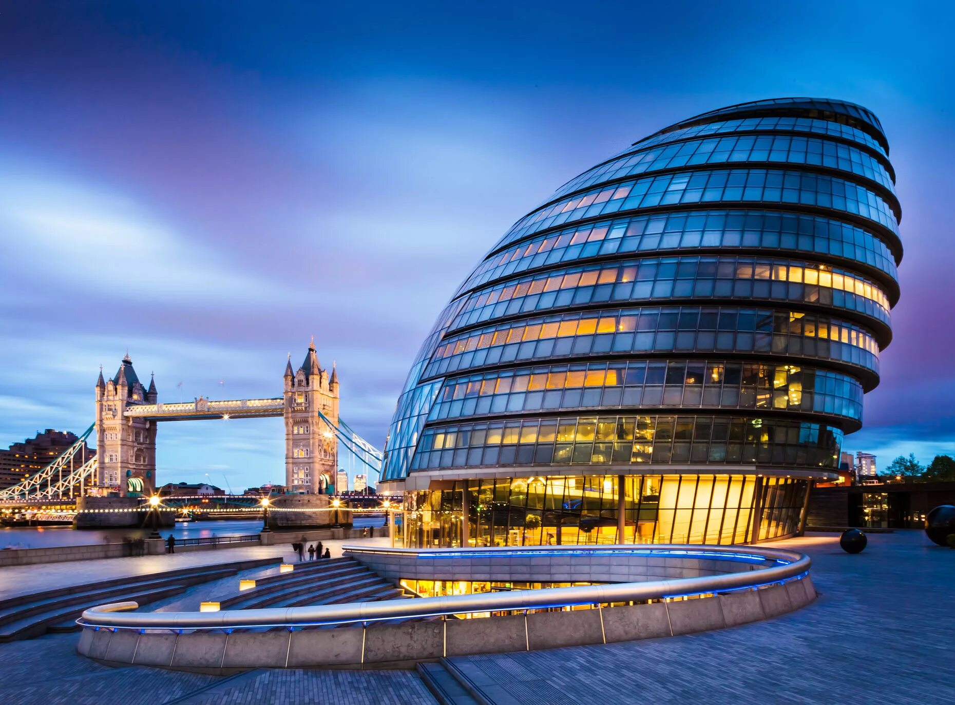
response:
<path fill-rule="evenodd" d="M 455 481 L 450 489 L 405 494 L 405 545 L 456 547 L 465 530 L 468 546 L 744 544 L 794 533 L 805 495 L 804 480 L 757 475 Z"/>

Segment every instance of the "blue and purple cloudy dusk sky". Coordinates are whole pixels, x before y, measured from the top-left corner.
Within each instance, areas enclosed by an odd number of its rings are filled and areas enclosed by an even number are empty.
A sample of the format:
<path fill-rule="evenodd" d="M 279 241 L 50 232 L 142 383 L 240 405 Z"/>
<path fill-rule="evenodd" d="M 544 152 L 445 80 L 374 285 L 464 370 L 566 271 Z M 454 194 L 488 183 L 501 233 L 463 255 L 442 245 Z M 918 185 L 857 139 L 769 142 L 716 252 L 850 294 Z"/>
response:
<path fill-rule="evenodd" d="M 0 0 L 0 445 L 160 401 L 280 395 L 314 334 L 383 446 L 435 316 L 557 186 L 714 108 L 880 118 L 902 299 L 845 450 L 955 454 L 955 6 Z M 222 380 L 222 383 L 221 381 Z M 159 427 L 159 481 L 284 479 L 281 419 Z"/>

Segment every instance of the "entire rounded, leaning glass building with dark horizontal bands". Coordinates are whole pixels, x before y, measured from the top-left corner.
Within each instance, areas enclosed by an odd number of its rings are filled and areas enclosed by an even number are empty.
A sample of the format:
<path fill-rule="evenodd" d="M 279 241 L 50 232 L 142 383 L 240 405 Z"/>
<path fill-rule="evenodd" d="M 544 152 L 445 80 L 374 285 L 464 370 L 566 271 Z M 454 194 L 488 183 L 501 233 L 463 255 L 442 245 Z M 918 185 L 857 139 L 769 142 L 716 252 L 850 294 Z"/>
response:
<path fill-rule="evenodd" d="M 795 533 L 891 340 L 894 181 L 868 110 L 780 98 L 566 182 L 414 360 L 382 475 L 404 491 L 405 545 Z"/>

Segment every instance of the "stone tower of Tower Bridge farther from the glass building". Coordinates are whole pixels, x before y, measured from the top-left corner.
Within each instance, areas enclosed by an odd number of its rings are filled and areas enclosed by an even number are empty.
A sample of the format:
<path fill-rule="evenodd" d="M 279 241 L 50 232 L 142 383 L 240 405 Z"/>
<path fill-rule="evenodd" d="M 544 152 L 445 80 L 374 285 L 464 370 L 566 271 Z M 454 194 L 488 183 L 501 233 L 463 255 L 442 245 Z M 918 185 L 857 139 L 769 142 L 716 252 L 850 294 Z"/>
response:
<path fill-rule="evenodd" d="M 96 380 L 96 484 L 119 487 L 122 497 L 151 495 L 156 491 L 156 421 L 123 416 L 130 406 L 155 404 L 156 381 L 143 387 L 133 369 L 129 352 L 117 374 Z"/>

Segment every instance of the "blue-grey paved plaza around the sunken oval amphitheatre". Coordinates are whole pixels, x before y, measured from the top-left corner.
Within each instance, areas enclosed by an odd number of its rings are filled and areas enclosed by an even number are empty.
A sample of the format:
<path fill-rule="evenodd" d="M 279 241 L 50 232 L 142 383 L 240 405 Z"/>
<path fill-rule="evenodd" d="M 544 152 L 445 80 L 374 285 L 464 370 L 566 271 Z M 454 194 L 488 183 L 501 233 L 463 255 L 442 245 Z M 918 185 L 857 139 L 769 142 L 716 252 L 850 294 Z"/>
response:
<path fill-rule="evenodd" d="M 499 705 L 955 702 L 955 551 L 930 545 L 917 531 L 871 534 L 856 556 L 839 549 L 836 535 L 775 545 L 813 559 L 821 594 L 805 609 L 730 630 L 452 661 Z M 244 550 L 216 555 L 238 557 Z M 125 560 L 136 559 L 105 563 Z M 223 678 L 110 669 L 76 655 L 77 638 L 0 645 L 3 701 L 434 702 L 410 671 L 254 671 Z"/>

